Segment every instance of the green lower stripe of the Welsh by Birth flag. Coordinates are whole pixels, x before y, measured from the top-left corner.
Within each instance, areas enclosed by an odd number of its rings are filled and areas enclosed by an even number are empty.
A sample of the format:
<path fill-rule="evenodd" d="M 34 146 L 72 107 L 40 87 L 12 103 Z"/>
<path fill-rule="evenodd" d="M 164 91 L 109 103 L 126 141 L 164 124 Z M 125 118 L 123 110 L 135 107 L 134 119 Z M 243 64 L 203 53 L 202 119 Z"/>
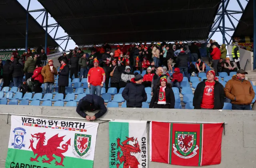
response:
<path fill-rule="evenodd" d="M 37 154 L 36 154 L 37 155 Z M 21 156 L 21 157 L 20 157 Z M 22 168 L 22 167 L 41 167 L 41 168 L 56 168 L 56 167 L 62 167 L 62 166 L 55 166 L 55 162 L 60 162 L 60 157 L 53 155 L 56 160 L 52 160 L 50 163 L 42 163 L 42 159 L 48 160 L 46 155 L 39 157 L 37 160 L 38 162 L 34 161 L 31 162 L 30 158 L 36 158 L 34 156 L 34 153 L 29 150 L 21 150 L 21 149 L 12 149 L 8 148 L 8 154 L 6 158 L 5 167 L 6 168 Z M 18 164 L 18 166 L 17 166 Z M 29 166 L 26 166 L 28 164 Z M 23 166 L 24 165 L 24 166 Z M 31 166 L 32 165 L 32 166 Z M 35 166 L 33 166 L 35 165 Z M 85 160 L 81 158 L 74 158 L 65 156 L 63 160 L 63 165 L 65 168 L 78 168 L 83 165 L 86 168 L 92 168 L 93 167 L 93 160 Z"/>

